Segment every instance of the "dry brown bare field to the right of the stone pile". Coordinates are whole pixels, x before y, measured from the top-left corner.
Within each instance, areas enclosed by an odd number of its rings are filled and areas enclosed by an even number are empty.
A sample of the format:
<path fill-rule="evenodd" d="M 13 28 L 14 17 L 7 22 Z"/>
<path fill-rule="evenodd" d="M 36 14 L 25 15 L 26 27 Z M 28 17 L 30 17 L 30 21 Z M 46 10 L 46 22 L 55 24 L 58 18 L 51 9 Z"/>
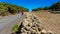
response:
<path fill-rule="evenodd" d="M 51 14 L 50 12 L 30 12 L 30 14 L 35 15 L 46 30 L 60 34 L 60 14 Z"/>

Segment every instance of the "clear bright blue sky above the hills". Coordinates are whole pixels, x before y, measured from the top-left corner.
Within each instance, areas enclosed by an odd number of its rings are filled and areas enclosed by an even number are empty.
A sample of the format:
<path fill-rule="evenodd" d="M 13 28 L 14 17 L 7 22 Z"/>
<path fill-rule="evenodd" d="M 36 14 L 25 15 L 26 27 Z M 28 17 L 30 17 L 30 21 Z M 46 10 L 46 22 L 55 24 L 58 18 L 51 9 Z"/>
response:
<path fill-rule="evenodd" d="M 54 2 L 60 0 L 0 0 L 0 2 L 7 2 L 18 6 L 23 6 L 29 10 L 39 7 L 51 6 Z"/>

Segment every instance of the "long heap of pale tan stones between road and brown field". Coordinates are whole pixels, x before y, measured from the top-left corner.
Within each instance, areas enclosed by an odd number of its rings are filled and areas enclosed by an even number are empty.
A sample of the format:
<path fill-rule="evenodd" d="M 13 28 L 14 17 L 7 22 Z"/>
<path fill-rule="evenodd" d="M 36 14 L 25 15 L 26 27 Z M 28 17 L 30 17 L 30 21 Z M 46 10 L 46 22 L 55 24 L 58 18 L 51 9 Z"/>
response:
<path fill-rule="evenodd" d="M 26 18 L 21 25 L 20 32 L 16 32 L 16 34 L 53 34 L 52 31 L 46 31 L 42 24 L 40 24 L 39 20 L 30 14 L 26 15 Z"/>

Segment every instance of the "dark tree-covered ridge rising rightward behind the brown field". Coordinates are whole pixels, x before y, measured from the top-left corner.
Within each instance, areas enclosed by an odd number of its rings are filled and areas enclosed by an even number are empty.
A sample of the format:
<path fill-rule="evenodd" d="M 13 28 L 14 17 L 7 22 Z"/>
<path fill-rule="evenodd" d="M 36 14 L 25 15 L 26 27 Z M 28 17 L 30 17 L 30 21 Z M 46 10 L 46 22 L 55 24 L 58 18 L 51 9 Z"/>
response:
<path fill-rule="evenodd" d="M 32 9 L 32 11 L 40 11 L 40 10 L 60 11 L 60 1 L 52 4 L 50 7 Z"/>

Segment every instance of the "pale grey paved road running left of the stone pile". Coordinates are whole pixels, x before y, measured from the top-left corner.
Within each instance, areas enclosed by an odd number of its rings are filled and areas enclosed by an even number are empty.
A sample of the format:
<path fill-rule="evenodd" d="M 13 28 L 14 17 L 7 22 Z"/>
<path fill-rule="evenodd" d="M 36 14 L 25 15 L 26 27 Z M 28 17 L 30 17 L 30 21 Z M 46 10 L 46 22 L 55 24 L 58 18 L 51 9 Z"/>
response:
<path fill-rule="evenodd" d="M 24 18 L 24 15 L 16 14 L 0 19 L 0 34 L 10 34 L 11 27 L 18 23 L 22 17 Z"/>

